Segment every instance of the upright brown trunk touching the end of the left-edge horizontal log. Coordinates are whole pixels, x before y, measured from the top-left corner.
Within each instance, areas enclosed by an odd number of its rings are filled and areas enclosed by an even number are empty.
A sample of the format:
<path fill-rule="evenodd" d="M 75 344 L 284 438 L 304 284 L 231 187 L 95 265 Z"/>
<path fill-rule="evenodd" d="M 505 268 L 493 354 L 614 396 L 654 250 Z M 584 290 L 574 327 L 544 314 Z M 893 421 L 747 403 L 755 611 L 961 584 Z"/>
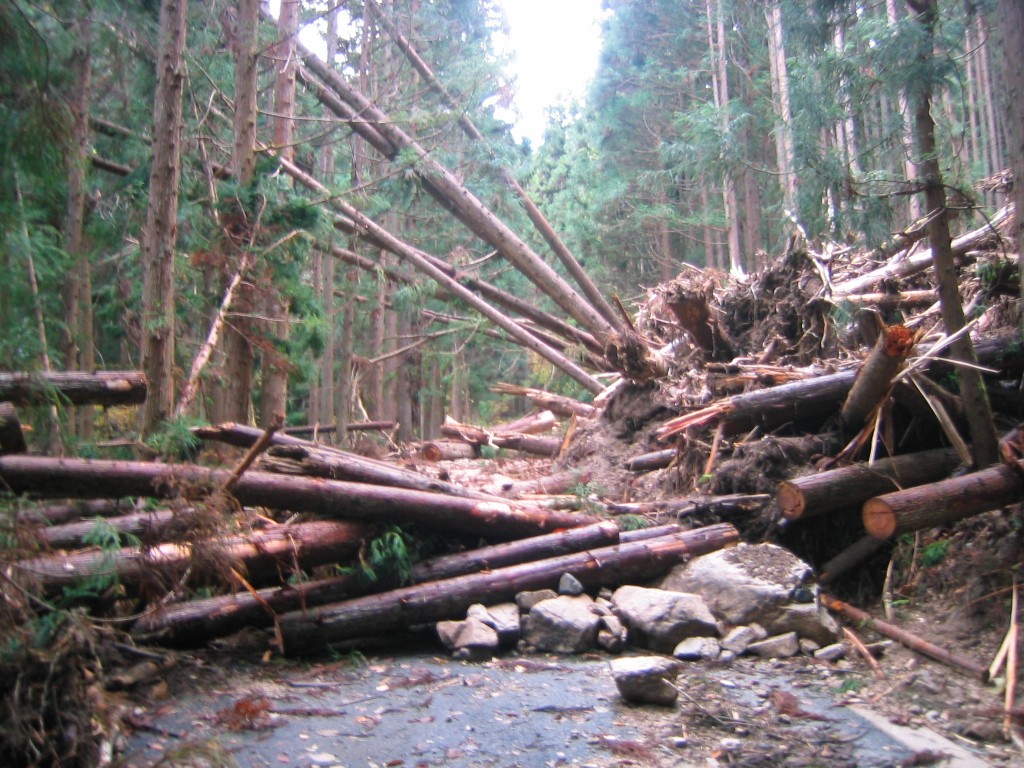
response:
<path fill-rule="evenodd" d="M 187 0 L 163 0 L 160 4 L 150 206 L 142 237 L 141 358 L 150 386 L 139 423 L 143 435 L 170 415 L 174 398 L 174 249 L 187 7 Z"/>

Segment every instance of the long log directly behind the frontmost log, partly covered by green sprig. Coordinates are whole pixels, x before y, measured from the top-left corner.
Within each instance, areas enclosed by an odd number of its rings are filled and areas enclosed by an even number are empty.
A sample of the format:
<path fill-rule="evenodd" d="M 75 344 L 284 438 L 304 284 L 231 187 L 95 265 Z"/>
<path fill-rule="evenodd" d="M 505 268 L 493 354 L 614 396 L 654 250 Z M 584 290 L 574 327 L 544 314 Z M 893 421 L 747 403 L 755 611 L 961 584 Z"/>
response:
<path fill-rule="evenodd" d="M 618 536 L 617 526 L 606 521 L 435 557 L 413 565 L 412 583 L 452 579 L 464 573 L 607 546 L 617 542 Z M 258 590 L 256 595 L 239 592 L 189 600 L 141 616 L 132 628 L 132 635 L 146 642 L 198 645 L 244 627 L 269 627 L 279 613 L 314 608 L 361 595 L 367 591 L 367 585 L 357 575 L 346 574 Z"/>

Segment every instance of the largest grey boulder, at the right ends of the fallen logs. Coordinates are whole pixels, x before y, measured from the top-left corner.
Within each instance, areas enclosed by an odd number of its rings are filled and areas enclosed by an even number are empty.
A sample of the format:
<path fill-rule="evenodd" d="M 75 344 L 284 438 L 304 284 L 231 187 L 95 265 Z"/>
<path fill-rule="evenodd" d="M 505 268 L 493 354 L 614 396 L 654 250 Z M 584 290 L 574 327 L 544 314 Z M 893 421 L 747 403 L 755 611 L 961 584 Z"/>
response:
<path fill-rule="evenodd" d="M 677 565 L 657 586 L 703 597 L 731 625 L 764 624 L 811 575 L 810 566 L 773 544 L 740 544 Z"/>

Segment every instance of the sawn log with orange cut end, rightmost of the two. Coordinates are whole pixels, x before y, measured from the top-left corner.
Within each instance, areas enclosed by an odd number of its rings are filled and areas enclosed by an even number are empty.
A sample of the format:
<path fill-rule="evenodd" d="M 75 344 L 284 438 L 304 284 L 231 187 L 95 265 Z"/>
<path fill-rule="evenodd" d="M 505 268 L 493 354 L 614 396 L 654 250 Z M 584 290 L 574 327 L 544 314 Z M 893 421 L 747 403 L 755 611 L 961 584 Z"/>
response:
<path fill-rule="evenodd" d="M 1024 465 L 997 464 L 961 477 L 868 499 L 861 514 L 864 530 L 876 539 L 889 539 L 1018 503 L 1022 493 Z"/>

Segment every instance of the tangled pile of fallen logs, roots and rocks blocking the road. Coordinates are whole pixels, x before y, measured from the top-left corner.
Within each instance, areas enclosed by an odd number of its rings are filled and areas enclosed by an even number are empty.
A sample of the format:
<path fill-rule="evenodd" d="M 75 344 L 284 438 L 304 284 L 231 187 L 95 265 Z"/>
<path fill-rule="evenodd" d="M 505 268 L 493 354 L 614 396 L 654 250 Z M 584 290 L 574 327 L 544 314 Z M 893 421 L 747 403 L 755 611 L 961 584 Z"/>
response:
<path fill-rule="evenodd" d="M 649 608 L 662 598 L 630 590 L 742 540 L 783 545 L 844 596 L 867 589 L 892 599 L 895 555 L 907 546 L 901 534 L 915 535 L 908 562 L 899 564 L 907 571 L 904 589 L 922 584 L 922 553 L 955 542 L 973 553 L 972 564 L 983 565 L 972 571 L 971 594 L 1006 595 L 1024 549 L 1014 506 L 1024 492 L 1024 441 L 1012 430 L 1024 411 L 1020 287 L 999 230 L 1010 220 L 1000 211 L 991 226 L 954 243 L 970 332 L 996 426 L 1007 434 L 1004 463 L 978 472 L 968 471 L 956 370 L 942 354 L 948 340 L 915 234 L 866 255 L 825 256 L 795 245 L 748 278 L 688 269 L 652 290 L 635 335 L 608 349 L 609 359 L 641 372 L 635 380 L 618 378 L 593 403 L 496 385 L 531 399 L 541 413 L 490 428 L 450 423 L 446 440 L 407 446 L 390 461 L 238 425 L 196 430 L 200 439 L 248 450 L 233 472 L 29 456 L 16 412 L 5 404 L 0 481 L 7 490 L 161 499 L 166 506 L 134 505 L 125 514 L 115 501 L 14 501 L 11 536 L 31 544 L 11 550 L 22 556 L 4 574 L 5 632 L 16 651 L 5 665 L 17 670 L 4 676 L 4 703 L 39 714 L 10 721 L 4 741 L 35 744 L 17 748 L 29 764 L 45 762 L 39 744 L 53 730 L 69 739 L 67 746 L 52 741 L 65 765 L 89 764 L 113 749 L 103 727 L 58 717 L 93 711 L 98 679 L 108 689 L 117 685 L 97 649 L 106 641 L 73 631 L 63 612 L 70 608 L 130 627 L 139 642 L 169 645 L 265 628 L 264 647 L 288 653 L 358 645 L 437 622 L 441 639 L 469 655 L 504 647 L 520 626 L 531 647 L 561 652 L 595 644 L 620 650 L 629 636 L 679 658 L 721 659 L 737 652 L 738 632 L 744 650 L 773 640 L 775 650 L 766 653 L 813 653 L 838 628 L 821 617 L 813 590 L 808 600 L 795 597 L 803 581 L 769 614 L 740 617 L 706 606 L 703 631 L 691 622 L 685 633 L 654 643 L 665 630 L 645 625 L 643 610 L 629 604 Z M 38 399 L 32 381 L 17 386 L 0 380 L 0 400 Z M 118 401 L 116 387 L 99 390 L 102 401 Z M 449 460 L 478 457 L 484 445 L 531 458 Z M 101 523 L 81 521 L 96 515 Z M 965 545 L 965 537 L 977 546 Z M 567 577 L 592 595 L 609 590 L 605 602 L 573 595 Z M 701 592 L 700 580 L 688 584 L 659 591 Z M 537 599 L 539 591 L 545 599 Z M 519 603 L 514 620 L 495 607 L 511 600 Z M 786 606 L 801 602 L 819 624 L 783 629 L 802 610 Z M 581 616 L 582 629 L 566 629 Z M 40 632 L 26 634 L 26 627 Z M 566 640 L 572 632 L 579 641 Z M 49 643 L 55 653 L 65 636 L 79 638 L 76 647 L 88 652 L 74 663 L 37 652 Z M 151 671 L 159 674 L 168 657 L 150 659 Z M 45 678 L 40 689 L 33 675 L 61 665 L 75 682 Z M 965 667 L 975 668 L 987 671 L 977 659 Z M 24 698 L 30 693 L 31 702 Z M 1013 705 L 1011 693 L 1008 731 Z"/>

